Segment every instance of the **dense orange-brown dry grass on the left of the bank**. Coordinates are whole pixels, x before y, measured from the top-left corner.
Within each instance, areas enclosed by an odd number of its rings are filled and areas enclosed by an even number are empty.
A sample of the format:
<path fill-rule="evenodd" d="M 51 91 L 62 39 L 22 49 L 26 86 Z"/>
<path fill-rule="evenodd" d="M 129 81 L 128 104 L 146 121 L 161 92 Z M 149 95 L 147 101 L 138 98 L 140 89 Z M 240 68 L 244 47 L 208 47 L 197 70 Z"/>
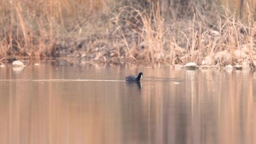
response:
<path fill-rule="evenodd" d="M 107 3 L 108 0 L 0 0 L 0 57 L 21 55 L 38 60 L 52 56 L 55 45 L 64 39 L 84 36 L 84 29 L 91 35 L 94 27 L 87 25 L 88 20 L 97 17 L 99 9 L 108 13 Z"/>

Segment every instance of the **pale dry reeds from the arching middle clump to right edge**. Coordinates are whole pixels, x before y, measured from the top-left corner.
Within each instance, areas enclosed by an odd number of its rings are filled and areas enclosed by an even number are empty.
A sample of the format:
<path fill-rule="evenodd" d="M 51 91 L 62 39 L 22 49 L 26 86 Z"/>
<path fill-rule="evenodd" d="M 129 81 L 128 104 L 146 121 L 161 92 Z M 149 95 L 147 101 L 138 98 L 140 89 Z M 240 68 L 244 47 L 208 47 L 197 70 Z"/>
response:
<path fill-rule="evenodd" d="M 194 7 L 193 15 L 168 19 L 162 14 L 159 1 L 149 0 L 149 3 L 146 10 L 122 7 L 111 19 L 118 26 L 117 35 L 124 39 L 127 59 L 150 63 L 201 64 L 207 57 L 208 64 L 254 66 L 256 27 L 248 3 L 247 18 L 243 19 L 239 19 L 229 8 L 223 7 L 222 11 L 215 9 L 215 12 L 210 9 L 209 12 L 201 11 L 197 5 L 191 6 Z M 209 16 L 212 12 L 214 17 Z M 123 23 L 128 26 L 124 27 Z M 134 35 L 138 36 L 137 41 L 127 42 L 127 37 Z"/>

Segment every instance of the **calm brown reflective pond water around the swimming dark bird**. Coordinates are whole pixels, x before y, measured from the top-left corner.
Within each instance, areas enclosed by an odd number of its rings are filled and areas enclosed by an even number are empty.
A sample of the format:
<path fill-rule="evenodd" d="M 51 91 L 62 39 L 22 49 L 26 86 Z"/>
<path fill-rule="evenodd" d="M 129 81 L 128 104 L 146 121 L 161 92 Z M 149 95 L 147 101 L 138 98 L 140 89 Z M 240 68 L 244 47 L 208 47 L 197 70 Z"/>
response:
<path fill-rule="evenodd" d="M 0 68 L 0 144 L 256 144 L 256 72 Z"/>

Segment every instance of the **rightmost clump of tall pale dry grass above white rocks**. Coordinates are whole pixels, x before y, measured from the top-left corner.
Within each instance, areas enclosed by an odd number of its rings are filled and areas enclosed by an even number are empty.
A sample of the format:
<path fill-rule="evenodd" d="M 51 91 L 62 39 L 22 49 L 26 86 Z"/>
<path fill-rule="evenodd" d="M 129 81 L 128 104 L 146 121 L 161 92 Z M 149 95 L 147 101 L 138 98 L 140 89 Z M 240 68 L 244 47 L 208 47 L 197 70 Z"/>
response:
<path fill-rule="evenodd" d="M 209 56 L 214 61 L 213 64 L 234 65 L 247 62 L 250 66 L 254 66 L 256 23 L 252 18 L 248 5 L 247 9 L 248 17 L 245 18 L 247 21 L 239 20 L 229 9 L 224 9 L 223 14 L 217 16 L 219 19 L 217 25 L 206 29 L 202 29 L 202 25 L 205 25 L 202 24 L 204 19 L 195 20 L 195 17 L 201 17 L 198 13 L 195 13 L 198 16 L 194 16 L 192 20 L 190 34 L 186 35 L 182 32 L 187 39 L 184 62 L 193 61 L 199 63 L 202 58 Z"/>

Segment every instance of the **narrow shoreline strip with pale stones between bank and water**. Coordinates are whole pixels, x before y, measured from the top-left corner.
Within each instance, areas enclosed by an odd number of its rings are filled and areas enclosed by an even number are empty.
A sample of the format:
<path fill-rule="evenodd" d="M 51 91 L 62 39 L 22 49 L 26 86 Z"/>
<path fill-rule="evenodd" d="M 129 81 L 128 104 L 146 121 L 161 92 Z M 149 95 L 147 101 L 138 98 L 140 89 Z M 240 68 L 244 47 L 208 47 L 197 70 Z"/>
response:
<path fill-rule="evenodd" d="M 21 66 L 19 65 L 13 65 L 13 62 L 18 62 L 18 63 L 23 63 Z M 216 65 L 197 65 L 196 63 L 193 63 L 193 62 L 189 62 L 189 63 L 186 63 L 185 65 L 183 64 L 170 64 L 170 63 L 143 63 L 143 62 L 140 62 L 140 63 L 130 63 L 130 62 L 127 62 L 127 63 L 97 63 L 97 62 L 90 62 L 90 61 L 81 61 L 77 58 L 57 58 L 57 59 L 52 59 L 52 58 L 49 58 L 49 59 L 44 59 L 44 60 L 40 60 L 40 61 L 31 61 L 31 60 L 16 60 L 16 61 L 12 61 L 12 62 L 5 62 L 5 63 L 0 63 L 0 67 L 1 68 L 5 68 L 6 66 L 11 66 L 11 67 L 22 67 L 22 69 L 24 67 L 26 67 L 27 65 L 32 65 L 32 66 L 39 66 L 40 63 L 51 63 L 53 65 L 71 65 L 71 66 L 74 66 L 74 65 L 81 65 L 81 64 L 91 64 L 91 65 L 97 65 L 97 66 L 125 66 L 125 65 L 137 65 L 137 66 L 146 66 L 146 67 L 159 67 L 159 66 L 169 66 L 169 67 L 172 67 L 174 69 L 185 69 L 185 70 L 197 70 L 197 69 L 202 69 L 202 70 L 207 70 L 207 69 L 211 69 L 211 70 L 217 70 L 217 69 L 221 69 L 221 70 L 227 70 L 227 71 L 232 71 L 232 70 L 251 70 L 251 71 L 254 71 L 256 70 L 255 67 L 251 67 L 249 65 L 239 65 L 239 64 L 236 64 L 236 65 L 225 65 L 225 66 L 222 66 L 222 65 L 219 65 L 219 64 L 216 64 Z"/>

